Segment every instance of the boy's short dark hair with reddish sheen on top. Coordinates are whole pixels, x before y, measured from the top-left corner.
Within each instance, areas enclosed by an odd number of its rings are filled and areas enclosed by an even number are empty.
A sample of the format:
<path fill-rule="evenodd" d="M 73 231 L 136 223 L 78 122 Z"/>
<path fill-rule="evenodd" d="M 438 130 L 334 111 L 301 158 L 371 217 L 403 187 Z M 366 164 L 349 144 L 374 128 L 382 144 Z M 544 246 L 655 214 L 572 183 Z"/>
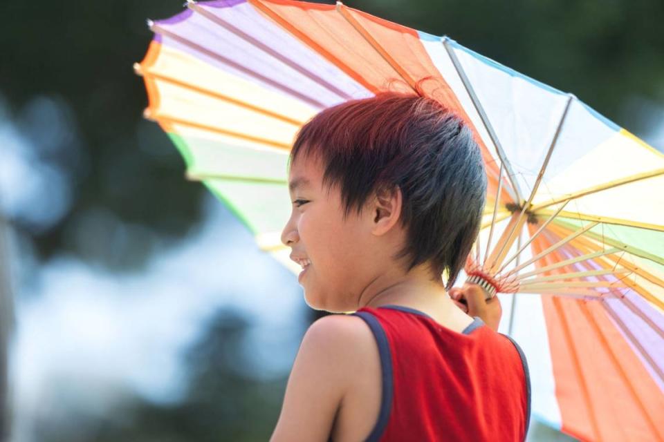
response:
<path fill-rule="evenodd" d="M 407 271 L 430 261 L 452 287 L 479 232 L 486 173 L 472 131 L 428 97 L 380 93 L 326 108 L 300 128 L 289 164 L 321 161 L 323 184 L 339 186 L 344 219 L 373 192 L 401 189 Z"/>

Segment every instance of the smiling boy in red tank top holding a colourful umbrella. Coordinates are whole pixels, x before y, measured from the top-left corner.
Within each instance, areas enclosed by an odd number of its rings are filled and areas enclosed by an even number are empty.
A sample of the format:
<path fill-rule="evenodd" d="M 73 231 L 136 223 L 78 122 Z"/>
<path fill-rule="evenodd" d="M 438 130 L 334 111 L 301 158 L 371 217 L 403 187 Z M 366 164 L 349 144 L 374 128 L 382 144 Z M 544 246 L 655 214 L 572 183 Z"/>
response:
<path fill-rule="evenodd" d="M 497 298 L 446 292 L 485 203 L 470 129 L 432 99 L 382 93 L 316 115 L 290 160 L 282 242 L 305 300 L 355 313 L 307 330 L 270 440 L 524 440 L 527 367 L 495 332 Z"/>

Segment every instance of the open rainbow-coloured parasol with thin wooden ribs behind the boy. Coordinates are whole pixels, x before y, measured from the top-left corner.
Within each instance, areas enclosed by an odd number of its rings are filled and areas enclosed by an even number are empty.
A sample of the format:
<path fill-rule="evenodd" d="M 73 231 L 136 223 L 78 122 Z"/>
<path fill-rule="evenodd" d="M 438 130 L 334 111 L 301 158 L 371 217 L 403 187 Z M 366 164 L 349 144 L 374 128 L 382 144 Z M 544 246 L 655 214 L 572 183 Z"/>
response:
<path fill-rule="evenodd" d="M 589 441 L 664 440 L 664 157 L 568 93 L 448 37 L 337 3 L 187 3 L 134 67 L 145 116 L 286 267 L 286 160 L 315 113 L 382 90 L 458 113 L 488 173 L 466 271 L 506 306 L 536 419 Z"/>

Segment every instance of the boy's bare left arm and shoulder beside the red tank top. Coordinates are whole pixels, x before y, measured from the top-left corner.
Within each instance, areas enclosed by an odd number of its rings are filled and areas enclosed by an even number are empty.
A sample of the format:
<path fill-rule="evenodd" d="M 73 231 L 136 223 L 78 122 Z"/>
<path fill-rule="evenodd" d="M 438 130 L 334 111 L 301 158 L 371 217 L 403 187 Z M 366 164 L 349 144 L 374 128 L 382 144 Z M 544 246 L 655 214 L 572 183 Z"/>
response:
<path fill-rule="evenodd" d="M 324 316 L 308 328 L 270 442 L 329 440 L 351 375 L 361 363 L 358 340 L 366 340 L 367 333 L 360 318 L 346 315 Z"/>

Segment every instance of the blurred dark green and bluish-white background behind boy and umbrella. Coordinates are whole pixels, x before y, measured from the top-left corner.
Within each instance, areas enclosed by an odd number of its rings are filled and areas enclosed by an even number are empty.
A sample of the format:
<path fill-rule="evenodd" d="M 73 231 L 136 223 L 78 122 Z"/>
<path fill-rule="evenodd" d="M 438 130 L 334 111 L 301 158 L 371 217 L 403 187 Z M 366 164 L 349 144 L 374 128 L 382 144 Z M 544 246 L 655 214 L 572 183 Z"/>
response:
<path fill-rule="evenodd" d="M 661 0 L 344 3 L 449 35 L 664 149 Z M 317 312 L 142 118 L 145 19 L 181 8 L 0 3 L 2 440 L 266 441 L 277 421 Z M 536 422 L 529 439 L 572 440 Z"/>

